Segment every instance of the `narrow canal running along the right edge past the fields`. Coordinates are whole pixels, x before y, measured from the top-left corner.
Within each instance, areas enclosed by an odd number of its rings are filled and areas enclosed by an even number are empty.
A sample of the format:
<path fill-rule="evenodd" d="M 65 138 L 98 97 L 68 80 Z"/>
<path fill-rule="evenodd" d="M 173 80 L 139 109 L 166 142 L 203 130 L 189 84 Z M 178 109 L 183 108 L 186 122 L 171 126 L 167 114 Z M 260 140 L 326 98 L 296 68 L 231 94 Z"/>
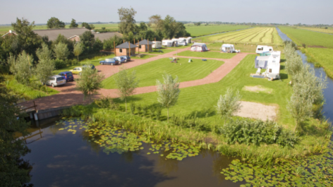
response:
<path fill-rule="evenodd" d="M 291 39 L 287 35 L 285 35 L 283 32 L 281 32 L 281 30 L 279 30 L 279 28 L 277 28 L 277 32 L 279 32 L 279 36 L 281 37 L 282 40 L 291 41 Z M 308 64 L 315 69 L 315 75 L 317 77 L 320 77 L 321 75 L 322 75 L 322 77 L 326 76 L 326 73 L 323 68 L 315 68 L 315 66 L 312 63 L 309 63 L 306 60 L 307 57 L 305 56 L 305 54 L 303 54 L 299 50 L 297 52 L 299 55 L 301 55 L 303 64 Z M 324 112 L 324 116 L 326 117 L 326 119 L 329 119 L 329 121 L 332 121 L 332 119 L 333 119 L 333 97 L 332 97 L 332 95 L 333 95 L 333 80 L 331 78 L 327 78 L 327 88 L 324 90 L 326 104 L 324 105 L 323 112 Z"/>

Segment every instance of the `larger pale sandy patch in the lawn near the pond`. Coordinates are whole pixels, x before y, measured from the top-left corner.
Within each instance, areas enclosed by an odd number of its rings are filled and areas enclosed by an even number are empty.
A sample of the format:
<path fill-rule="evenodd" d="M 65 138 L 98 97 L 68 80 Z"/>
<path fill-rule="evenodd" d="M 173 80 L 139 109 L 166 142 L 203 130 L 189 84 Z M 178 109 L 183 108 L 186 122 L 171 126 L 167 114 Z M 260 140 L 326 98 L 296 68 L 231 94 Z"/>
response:
<path fill-rule="evenodd" d="M 241 102 L 241 109 L 236 116 L 261 119 L 262 121 L 277 119 L 277 107 L 256 102 Z"/>

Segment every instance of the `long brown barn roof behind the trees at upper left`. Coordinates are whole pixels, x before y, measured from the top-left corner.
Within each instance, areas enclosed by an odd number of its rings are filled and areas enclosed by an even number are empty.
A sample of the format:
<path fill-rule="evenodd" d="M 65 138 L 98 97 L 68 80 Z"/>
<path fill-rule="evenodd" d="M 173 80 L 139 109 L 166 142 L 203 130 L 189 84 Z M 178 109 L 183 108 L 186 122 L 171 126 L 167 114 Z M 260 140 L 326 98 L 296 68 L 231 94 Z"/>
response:
<path fill-rule="evenodd" d="M 47 30 L 34 30 L 37 35 L 48 36 L 49 40 L 56 40 L 59 34 L 65 36 L 66 38 L 73 37 L 75 35 L 80 36 L 83 32 L 89 31 L 86 28 L 66 28 L 66 29 L 47 29 Z"/>

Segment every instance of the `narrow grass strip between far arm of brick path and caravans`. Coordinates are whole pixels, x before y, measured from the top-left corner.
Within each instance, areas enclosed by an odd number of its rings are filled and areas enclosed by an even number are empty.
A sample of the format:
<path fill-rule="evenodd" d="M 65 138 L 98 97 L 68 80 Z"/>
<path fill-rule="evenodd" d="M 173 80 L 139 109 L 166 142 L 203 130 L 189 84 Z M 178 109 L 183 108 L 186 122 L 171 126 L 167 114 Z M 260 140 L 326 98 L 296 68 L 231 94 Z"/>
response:
<path fill-rule="evenodd" d="M 212 59 L 231 59 L 236 55 L 236 53 L 221 53 L 221 52 L 180 52 L 179 56 L 193 56 L 202 58 L 212 58 Z"/>

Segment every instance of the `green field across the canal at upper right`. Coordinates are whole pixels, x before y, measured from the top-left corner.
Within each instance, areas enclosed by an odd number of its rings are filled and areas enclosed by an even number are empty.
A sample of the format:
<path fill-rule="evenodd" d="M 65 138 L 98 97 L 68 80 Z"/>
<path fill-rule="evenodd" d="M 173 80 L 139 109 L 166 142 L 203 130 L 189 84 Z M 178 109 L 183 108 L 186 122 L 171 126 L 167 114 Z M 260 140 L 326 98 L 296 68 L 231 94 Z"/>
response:
<path fill-rule="evenodd" d="M 299 46 L 306 44 L 307 47 L 322 46 L 333 48 L 333 35 L 287 27 L 281 27 L 280 30 Z"/>

